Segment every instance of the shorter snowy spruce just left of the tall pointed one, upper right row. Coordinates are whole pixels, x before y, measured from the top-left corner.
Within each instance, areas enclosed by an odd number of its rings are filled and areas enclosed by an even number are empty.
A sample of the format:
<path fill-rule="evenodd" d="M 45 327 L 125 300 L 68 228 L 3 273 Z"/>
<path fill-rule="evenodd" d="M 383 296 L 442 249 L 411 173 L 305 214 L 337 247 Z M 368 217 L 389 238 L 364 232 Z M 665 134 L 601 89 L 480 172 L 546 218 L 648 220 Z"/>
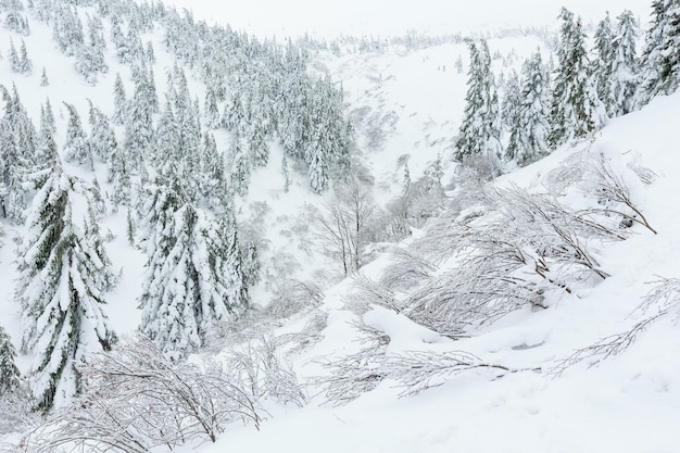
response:
<path fill-rule="evenodd" d="M 549 152 L 550 75 L 540 51 L 524 63 L 520 90 L 505 158 L 525 166 Z"/>

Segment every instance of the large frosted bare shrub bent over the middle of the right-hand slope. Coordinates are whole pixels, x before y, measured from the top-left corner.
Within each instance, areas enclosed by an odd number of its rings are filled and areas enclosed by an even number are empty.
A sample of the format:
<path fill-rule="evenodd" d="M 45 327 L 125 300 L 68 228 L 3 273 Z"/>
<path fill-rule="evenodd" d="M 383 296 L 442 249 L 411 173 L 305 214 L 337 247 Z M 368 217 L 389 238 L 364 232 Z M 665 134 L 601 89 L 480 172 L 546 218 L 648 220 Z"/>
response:
<path fill-rule="evenodd" d="M 457 221 L 438 224 L 436 234 L 415 241 L 386 270 L 381 281 L 389 290 L 420 277 L 419 287 L 403 301 L 391 302 L 398 312 L 457 337 L 470 325 L 519 306 L 544 307 L 546 291 L 574 294 L 576 284 L 608 277 L 593 244 L 627 238 L 612 219 L 515 186 L 489 191 L 487 202 L 495 210 L 477 210 L 481 216 L 462 213 Z M 435 263 L 444 260 L 453 260 L 452 265 L 439 273 Z M 358 286 L 362 295 L 379 292 L 365 287 Z M 375 303 L 373 297 L 364 300 Z"/>

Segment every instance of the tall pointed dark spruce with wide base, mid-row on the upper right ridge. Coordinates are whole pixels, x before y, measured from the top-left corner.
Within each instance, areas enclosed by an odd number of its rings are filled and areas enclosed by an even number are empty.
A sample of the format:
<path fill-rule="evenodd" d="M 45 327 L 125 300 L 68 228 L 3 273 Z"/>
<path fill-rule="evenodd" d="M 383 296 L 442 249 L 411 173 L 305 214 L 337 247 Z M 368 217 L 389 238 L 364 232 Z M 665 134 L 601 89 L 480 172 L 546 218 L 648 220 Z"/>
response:
<path fill-rule="evenodd" d="M 572 138 L 582 138 L 600 129 L 606 122 L 604 104 L 589 71 L 585 35 L 580 20 L 562 9 L 558 65 L 555 68 L 551 105 L 549 142 L 557 147 Z"/>

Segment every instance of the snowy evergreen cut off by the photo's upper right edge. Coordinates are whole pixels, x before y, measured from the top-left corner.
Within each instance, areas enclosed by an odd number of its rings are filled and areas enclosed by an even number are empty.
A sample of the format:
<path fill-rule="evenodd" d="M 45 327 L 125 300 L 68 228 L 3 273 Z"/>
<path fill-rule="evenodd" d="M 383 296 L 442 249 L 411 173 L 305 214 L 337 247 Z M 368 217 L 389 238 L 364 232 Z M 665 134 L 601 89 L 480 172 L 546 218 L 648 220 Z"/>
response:
<path fill-rule="evenodd" d="M 654 0 L 652 20 L 641 56 L 641 84 L 637 105 L 680 85 L 680 0 Z"/>

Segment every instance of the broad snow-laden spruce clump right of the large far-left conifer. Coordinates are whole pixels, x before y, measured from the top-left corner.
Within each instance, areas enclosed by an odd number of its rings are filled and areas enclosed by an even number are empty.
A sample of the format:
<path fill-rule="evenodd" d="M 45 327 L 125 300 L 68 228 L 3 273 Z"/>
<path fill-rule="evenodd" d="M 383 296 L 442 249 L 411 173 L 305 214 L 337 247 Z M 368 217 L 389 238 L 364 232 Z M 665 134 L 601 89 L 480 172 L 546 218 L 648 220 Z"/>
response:
<path fill-rule="evenodd" d="M 140 330 L 171 358 L 200 349 L 214 323 L 249 306 L 232 211 L 217 219 L 187 197 L 167 163 L 144 211 L 142 244 L 149 261 L 140 306 Z"/>

